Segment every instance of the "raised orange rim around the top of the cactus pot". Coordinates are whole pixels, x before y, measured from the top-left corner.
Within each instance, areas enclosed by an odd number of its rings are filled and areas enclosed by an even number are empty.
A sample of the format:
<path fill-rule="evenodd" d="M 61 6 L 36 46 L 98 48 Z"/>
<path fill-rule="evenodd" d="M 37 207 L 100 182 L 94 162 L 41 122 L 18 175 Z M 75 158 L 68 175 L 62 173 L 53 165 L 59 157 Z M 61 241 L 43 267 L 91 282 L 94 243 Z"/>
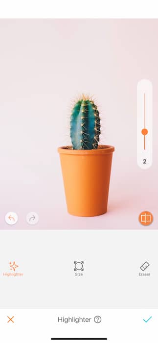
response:
<path fill-rule="evenodd" d="M 58 147 L 58 152 L 60 154 L 67 155 L 102 155 L 109 154 L 114 151 L 113 146 L 98 145 L 99 148 L 91 150 L 75 150 L 71 148 L 72 146 Z"/>

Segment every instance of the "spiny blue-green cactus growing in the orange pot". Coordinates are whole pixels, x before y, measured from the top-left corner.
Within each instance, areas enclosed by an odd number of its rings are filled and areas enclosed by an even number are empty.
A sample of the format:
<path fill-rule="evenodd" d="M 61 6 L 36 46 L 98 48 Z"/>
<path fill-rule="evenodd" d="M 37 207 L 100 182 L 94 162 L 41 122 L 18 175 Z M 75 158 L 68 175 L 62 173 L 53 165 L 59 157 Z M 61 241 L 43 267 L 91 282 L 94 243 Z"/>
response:
<path fill-rule="evenodd" d="M 93 100 L 83 95 L 75 103 L 70 117 L 72 148 L 76 150 L 97 149 L 99 135 L 99 111 Z"/>

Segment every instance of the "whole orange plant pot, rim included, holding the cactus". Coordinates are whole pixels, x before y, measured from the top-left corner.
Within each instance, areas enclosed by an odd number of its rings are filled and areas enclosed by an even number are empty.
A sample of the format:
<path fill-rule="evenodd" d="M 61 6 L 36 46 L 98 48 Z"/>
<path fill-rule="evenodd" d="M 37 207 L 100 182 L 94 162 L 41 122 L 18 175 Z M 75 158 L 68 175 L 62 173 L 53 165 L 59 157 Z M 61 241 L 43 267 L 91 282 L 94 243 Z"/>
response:
<path fill-rule="evenodd" d="M 68 212 L 93 217 L 107 212 L 114 147 L 93 150 L 59 147 Z"/>

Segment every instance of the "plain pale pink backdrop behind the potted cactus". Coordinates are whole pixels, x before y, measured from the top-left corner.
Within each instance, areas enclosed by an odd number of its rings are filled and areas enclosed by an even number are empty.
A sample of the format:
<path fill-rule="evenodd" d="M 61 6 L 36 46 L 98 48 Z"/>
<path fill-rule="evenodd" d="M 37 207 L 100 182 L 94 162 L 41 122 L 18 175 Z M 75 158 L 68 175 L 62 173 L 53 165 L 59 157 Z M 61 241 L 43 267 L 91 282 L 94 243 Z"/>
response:
<path fill-rule="evenodd" d="M 136 164 L 136 84 L 153 83 L 153 166 Z M 100 104 L 113 145 L 109 211 L 68 215 L 57 147 L 68 141 L 70 100 Z M 151 226 L 138 222 L 141 211 Z M 19 216 L 15 226 L 6 212 Z M 26 215 L 39 214 L 29 226 Z M 158 20 L 0 20 L 0 229 L 158 228 Z"/>

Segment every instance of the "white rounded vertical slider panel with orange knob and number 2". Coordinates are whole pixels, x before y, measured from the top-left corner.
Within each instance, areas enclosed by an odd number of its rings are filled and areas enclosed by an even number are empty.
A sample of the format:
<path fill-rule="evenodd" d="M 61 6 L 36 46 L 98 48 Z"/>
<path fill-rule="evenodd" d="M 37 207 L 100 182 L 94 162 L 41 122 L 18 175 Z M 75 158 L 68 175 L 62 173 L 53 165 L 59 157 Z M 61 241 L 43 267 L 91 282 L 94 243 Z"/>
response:
<path fill-rule="evenodd" d="M 137 164 L 141 169 L 152 165 L 153 87 L 149 80 L 137 84 Z"/>

